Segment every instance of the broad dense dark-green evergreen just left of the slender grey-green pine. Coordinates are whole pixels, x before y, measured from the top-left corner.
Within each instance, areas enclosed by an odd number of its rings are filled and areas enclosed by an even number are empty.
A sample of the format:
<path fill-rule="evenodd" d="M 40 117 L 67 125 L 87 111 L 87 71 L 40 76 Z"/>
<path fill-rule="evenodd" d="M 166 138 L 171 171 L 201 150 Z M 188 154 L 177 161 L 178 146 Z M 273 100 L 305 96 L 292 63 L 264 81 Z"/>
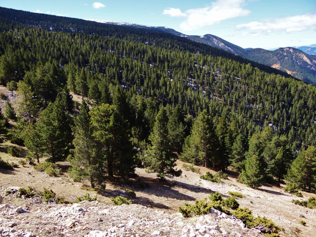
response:
<path fill-rule="evenodd" d="M 50 161 L 67 158 L 73 139 L 71 125 L 72 118 L 68 112 L 64 112 L 64 105 L 59 96 L 40 115 L 36 130 L 43 145 L 43 152 L 50 156 Z"/>

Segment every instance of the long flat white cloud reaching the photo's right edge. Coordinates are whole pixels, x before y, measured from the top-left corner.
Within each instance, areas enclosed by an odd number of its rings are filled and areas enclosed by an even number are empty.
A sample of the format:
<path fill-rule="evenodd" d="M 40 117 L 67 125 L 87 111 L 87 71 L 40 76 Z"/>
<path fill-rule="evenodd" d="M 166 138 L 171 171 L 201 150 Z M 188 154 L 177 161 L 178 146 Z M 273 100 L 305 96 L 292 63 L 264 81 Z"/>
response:
<path fill-rule="evenodd" d="M 251 30 L 256 33 L 269 34 L 271 32 L 294 32 L 316 28 L 316 14 L 305 14 L 265 20 L 263 22 L 252 21 L 247 24 L 235 26 L 238 30 Z"/>

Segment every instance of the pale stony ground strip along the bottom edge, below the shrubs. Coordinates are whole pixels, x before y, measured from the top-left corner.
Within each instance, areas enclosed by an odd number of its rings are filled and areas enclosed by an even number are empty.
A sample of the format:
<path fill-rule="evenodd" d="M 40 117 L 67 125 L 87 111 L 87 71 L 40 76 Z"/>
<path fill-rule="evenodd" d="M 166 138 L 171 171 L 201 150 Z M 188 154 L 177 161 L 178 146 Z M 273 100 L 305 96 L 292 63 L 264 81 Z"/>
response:
<path fill-rule="evenodd" d="M 38 205 L 34 200 L 10 199 L 0 204 L 0 236 L 261 236 L 234 216 L 214 209 L 208 215 L 184 218 L 138 204 Z"/>

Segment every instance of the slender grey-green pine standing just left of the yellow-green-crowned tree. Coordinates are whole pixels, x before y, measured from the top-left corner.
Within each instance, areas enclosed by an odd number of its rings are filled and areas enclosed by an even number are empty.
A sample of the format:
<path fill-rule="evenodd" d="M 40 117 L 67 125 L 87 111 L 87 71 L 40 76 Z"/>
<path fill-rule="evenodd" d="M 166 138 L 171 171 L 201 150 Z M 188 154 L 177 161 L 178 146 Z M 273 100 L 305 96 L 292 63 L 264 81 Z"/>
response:
<path fill-rule="evenodd" d="M 88 179 L 91 187 L 104 181 L 103 157 L 93 137 L 89 107 L 82 100 L 79 115 L 75 118 L 74 155 L 70 156 L 70 177 L 74 180 Z"/>

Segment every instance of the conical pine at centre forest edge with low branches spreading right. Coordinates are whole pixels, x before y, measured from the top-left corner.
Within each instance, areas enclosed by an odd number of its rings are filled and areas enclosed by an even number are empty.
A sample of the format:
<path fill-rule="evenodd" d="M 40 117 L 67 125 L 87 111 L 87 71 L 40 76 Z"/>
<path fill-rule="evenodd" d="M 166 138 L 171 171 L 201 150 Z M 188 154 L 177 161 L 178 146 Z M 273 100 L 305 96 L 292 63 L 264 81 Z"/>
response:
<path fill-rule="evenodd" d="M 145 151 L 143 158 L 144 166 L 149 171 L 156 172 L 157 177 L 164 179 L 165 176 L 180 176 L 182 170 L 174 170 L 175 158 L 170 151 L 170 140 L 167 129 L 167 112 L 161 106 L 156 119 L 153 131 L 149 136 L 151 144 Z"/>

